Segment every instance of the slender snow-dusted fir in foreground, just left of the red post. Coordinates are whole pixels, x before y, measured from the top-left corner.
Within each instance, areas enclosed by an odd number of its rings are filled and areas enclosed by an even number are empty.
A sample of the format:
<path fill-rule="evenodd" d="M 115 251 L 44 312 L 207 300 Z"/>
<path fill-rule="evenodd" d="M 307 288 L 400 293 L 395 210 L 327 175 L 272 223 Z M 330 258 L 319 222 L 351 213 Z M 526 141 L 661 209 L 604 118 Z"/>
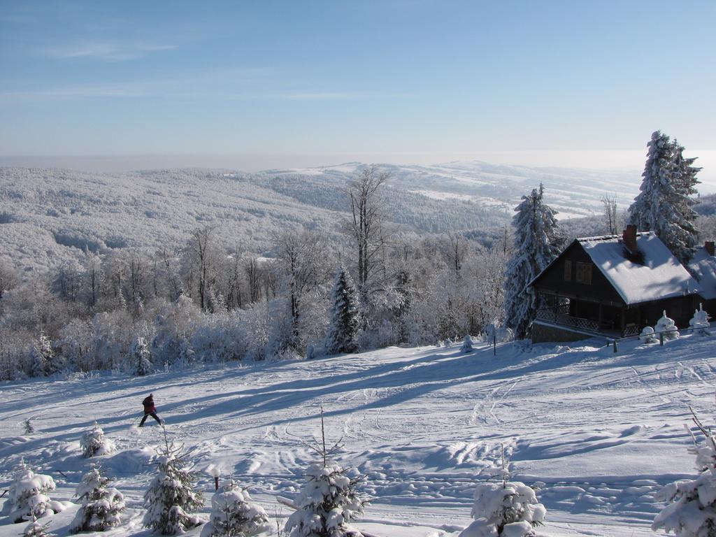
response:
<path fill-rule="evenodd" d="M 147 512 L 143 523 L 162 535 L 175 535 L 203 522 L 189 513 L 203 507 L 204 500 L 194 490 L 196 475 L 186 468 L 182 448 L 168 442 L 166 431 L 164 444 L 157 459 L 158 475 L 144 495 Z"/>

